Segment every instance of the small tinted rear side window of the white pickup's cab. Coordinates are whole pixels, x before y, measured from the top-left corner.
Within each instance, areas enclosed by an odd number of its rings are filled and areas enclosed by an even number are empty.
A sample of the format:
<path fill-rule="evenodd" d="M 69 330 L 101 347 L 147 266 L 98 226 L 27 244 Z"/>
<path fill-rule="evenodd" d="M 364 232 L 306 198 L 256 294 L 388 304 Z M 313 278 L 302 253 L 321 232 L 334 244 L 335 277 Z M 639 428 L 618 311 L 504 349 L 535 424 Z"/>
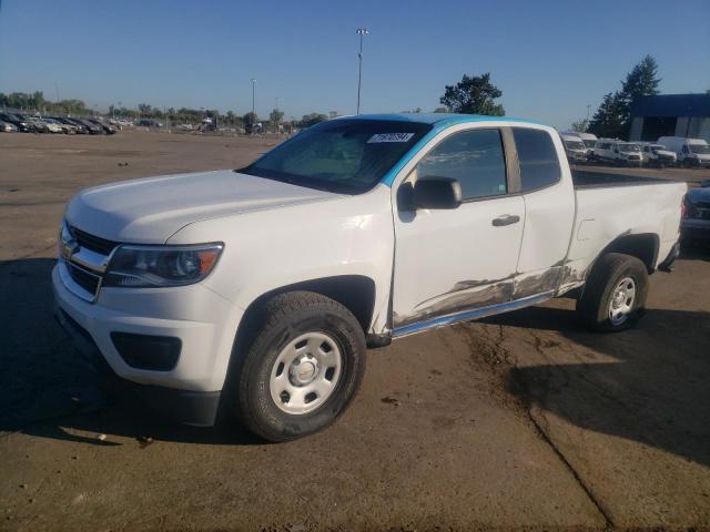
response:
<path fill-rule="evenodd" d="M 520 162 L 521 192 L 557 183 L 561 171 L 552 137 L 546 131 L 523 127 L 514 127 L 513 136 Z"/>

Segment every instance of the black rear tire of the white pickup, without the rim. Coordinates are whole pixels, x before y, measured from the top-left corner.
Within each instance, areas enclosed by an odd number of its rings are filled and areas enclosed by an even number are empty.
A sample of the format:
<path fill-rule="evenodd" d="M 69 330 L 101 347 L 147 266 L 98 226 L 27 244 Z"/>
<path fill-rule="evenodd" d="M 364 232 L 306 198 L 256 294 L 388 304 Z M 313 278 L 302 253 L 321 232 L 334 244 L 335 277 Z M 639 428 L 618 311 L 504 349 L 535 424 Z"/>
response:
<path fill-rule="evenodd" d="M 636 296 L 626 319 L 620 324 L 613 324 L 609 318 L 609 306 L 615 288 L 625 277 L 630 277 L 633 280 Z M 577 315 L 581 323 L 591 330 L 623 330 L 642 316 L 647 295 L 648 272 L 646 265 L 630 255 L 608 253 L 600 257 L 591 269 L 582 296 L 577 300 Z"/>

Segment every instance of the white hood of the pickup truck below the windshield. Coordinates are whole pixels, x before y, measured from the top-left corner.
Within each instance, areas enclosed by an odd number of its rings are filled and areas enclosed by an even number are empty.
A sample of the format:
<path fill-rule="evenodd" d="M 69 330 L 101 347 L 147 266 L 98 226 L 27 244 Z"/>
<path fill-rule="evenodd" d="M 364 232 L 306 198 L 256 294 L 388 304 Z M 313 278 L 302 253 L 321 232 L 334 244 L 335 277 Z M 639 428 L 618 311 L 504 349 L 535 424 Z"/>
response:
<path fill-rule="evenodd" d="M 175 232 L 201 219 L 337 196 L 220 170 L 87 188 L 72 198 L 65 216 L 70 225 L 110 241 L 164 244 Z"/>

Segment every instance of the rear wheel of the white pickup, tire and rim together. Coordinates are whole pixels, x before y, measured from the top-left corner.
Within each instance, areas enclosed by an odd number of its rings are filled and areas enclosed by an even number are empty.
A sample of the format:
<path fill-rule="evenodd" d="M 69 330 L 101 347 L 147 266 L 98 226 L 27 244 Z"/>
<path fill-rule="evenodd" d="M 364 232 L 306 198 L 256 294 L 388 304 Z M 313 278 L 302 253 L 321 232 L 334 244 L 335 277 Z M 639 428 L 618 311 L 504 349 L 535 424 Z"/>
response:
<path fill-rule="evenodd" d="M 643 313 L 647 294 L 646 265 L 630 255 L 608 253 L 589 274 L 577 314 L 592 330 L 623 330 Z"/>

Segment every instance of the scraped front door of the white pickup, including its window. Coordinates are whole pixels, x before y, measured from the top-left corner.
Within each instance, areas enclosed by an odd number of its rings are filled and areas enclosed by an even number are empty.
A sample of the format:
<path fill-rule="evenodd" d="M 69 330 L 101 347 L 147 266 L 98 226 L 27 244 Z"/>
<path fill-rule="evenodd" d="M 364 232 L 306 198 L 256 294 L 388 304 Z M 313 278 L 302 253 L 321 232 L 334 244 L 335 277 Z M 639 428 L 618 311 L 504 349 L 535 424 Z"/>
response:
<path fill-rule="evenodd" d="M 455 209 L 396 213 L 395 328 L 513 298 L 525 202 L 516 194 L 519 180 L 510 130 L 449 131 L 400 185 L 422 177 L 453 177 L 460 183 L 463 203 Z"/>

